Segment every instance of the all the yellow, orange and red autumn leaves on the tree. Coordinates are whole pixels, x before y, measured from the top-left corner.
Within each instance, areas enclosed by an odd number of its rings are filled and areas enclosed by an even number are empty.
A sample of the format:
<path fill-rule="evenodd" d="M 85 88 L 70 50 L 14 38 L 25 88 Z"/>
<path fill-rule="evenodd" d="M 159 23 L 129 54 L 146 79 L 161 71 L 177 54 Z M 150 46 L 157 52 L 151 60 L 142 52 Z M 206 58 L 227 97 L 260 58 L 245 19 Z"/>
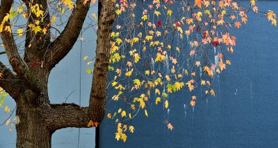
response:
<path fill-rule="evenodd" d="M 261 12 L 255 0 L 110 1 L 115 4 L 117 19 L 113 23 L 111 41 L 107 43 L 111 54 L 108 66 L 108 89 L 111 91 L 107 101 L 119 104 L 119 107 L 115 111 L 107 111 L 106 117 L 116 124 L 115 139 L 124 142 L 129 133 L 136 131 L 131 120 L 138 113 L 152 118 L 154 106 L 169 109 L 172 102 L 168 98 L 172 93 L 186 90 L 188 104 L 192 107 L 202 98 L 217 95 L 211 79 L 231 65 L 229 56 L 236 49 L 236 36 L 229 30 L 240 29 L 247 24 L 249 13 L 266 17 L 277 26 L 275 13 Z M 83 5 L 87 3 L 95 5 L 97 1 L 83 1 Z M 49 24 L 41 24 L 44 18 L 42 6 L 32 3 L 28 7 L 31 14 L 26 13 L 24 4 L 11 8 L 1 20 L 0 33 L 7 32 L 20 39 L 28 28 L 34 34 L 42 37 L 49 34 L 55 40 L 51 27 L 58 18 L 64 17 L 67 10 L 74 9 L 75 3 L 71 0 L 58 1 L 58 12 L 50 17 Z M 17 25 L 17 18 L 28 19 L 29 15 L 35 16 L 32 24 Z M 92 21 L 98 21 L 97 14 L 91 17 Z M 12 28 L 5 25 L 9 20 L 10 24 L 15 24 Z M 28 44 L 29 48 L 31 46 Z M 91 59 L 84 57 L 88 64 L 92 64 Z M 32 65 L 43 67 L 44 62 L 32 62 Z M 88 68 L 87 73 L 92 73 L 92 69 Z M 194 93 L 199 87 L 204 94 Z M 0 88 L 0 107 L 6 95 Z M 10 111 L 8 107 L 4 108 L 6 112 Z M 9 123 L 7 120 L 7 126 Z M 161 123 L 170 131 L 174 130 L 173 121 Z M 90 120 L 88 127 L 96 127 L 97 124 Z"/>

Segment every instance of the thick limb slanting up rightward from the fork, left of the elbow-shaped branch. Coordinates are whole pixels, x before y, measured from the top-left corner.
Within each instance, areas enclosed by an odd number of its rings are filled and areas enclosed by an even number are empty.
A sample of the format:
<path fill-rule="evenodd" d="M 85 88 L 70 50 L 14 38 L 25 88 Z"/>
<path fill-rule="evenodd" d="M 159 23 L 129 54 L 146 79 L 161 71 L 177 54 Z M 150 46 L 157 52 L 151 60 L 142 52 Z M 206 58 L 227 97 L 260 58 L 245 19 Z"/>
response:
<path fill-rule="evenodd" d="M 45 56 L 46 64 L 49 65 L 49 69 L 53 68 L 61 59 L 63 59 L 67 53 L 70 52 L 74 46 L 76 40 L 79 37 L 85 17 L 90 8 L 90 2 L 83 5 L 83 0 L 76 1 L 76 7 L 74 8 L 72 15 L 61 35 L 51 43 L 50 51 Z"/>

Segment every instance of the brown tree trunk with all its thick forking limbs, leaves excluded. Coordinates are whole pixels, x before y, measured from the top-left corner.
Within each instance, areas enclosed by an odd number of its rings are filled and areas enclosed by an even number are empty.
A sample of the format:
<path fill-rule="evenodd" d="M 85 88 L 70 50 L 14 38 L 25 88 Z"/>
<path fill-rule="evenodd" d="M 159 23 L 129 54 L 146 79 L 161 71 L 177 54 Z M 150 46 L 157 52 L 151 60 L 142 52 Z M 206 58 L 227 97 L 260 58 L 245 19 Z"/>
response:
<path fill-rule="evenodd" d="M 48 5 L 45 0 L 34 1 L 34 3 L 41 3 L 44 10 L 47 10 Z M 50 71 L 70 52 L 79 37 L 90 8 L 89 3 L 84 5 L 83 2 L 83 0 L 76 1 L 76 6 L 65 26 L 65 30 L 51 44 L 45 45 L 45 43 L 48 43 L 47 41 L 32 38 L 41 37 L 43 34 L 30 33 L 30 35 L 26 35 L 27 38 L 30 36 L 35 43 L 31 46 L 32 49 L 25 50 L 24 59 L 20 57 L 17 51 L 13 35 L 7 32 L 1 33 L 10 65 L 16 73 L 15 75 L 0 61 L 0 86 L 17 103 L 17 148 L 50 148 L 51 135 L 56 130 L 67 127 L 88 127 L 88 122 L 91 120 L 101 122 L 104 118 L 110 56 L 109 42 L 112 24 L 115 21 L 114 6 L 111 1 L 99 0 L 97 55 L 89 107 L 79 107 L 76 104 L 65 103 L 51 104 L 47 93 Z M 28 4 L 28 1 L 26 3 Z M 0 21 L 10 11 L 12 4 L 13 0 L 1 0 Z M 44 24 L 49 24 L 48 17 L 43 19 Z M 6 22 L 6 25 L 10 25 L 9 22 Z M 49 38 L 46 37 L 45 39 Z M 26 39 L 26 42 L 28 41 Z M 44 65 L 32 66 L 34 61 L 43 62 Z"/>

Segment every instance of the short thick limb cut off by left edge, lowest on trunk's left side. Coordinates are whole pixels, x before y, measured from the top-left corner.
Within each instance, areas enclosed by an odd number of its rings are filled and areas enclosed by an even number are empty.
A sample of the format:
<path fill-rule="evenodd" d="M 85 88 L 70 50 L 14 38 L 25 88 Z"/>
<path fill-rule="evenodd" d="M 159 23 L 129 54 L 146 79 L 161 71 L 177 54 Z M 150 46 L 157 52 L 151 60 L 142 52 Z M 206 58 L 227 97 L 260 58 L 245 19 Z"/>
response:
<path fill-rule="evenodd" d="M 0 62 L 0 86 L 15 100 L 26 90 L 22 80 L 19 80 L 2 62 Z"/>

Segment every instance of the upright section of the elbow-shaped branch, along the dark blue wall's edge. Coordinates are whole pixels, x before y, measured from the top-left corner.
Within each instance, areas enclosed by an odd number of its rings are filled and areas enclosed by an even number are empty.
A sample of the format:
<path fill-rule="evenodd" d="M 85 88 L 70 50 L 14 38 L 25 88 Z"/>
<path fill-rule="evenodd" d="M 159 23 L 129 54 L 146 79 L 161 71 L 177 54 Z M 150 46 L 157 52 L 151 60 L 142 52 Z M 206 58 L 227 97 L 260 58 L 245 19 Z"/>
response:
<path fill-rule="evenodd" d="M 97 50 L 89 101 L 89 116 L 97 121 L 103 120 L 106 105 L 107 73 L 109 64 L 109 46 L 112 24 L 115 21 L 114 4 L 111 1 L 99 2 L 97 28 Z"/>

